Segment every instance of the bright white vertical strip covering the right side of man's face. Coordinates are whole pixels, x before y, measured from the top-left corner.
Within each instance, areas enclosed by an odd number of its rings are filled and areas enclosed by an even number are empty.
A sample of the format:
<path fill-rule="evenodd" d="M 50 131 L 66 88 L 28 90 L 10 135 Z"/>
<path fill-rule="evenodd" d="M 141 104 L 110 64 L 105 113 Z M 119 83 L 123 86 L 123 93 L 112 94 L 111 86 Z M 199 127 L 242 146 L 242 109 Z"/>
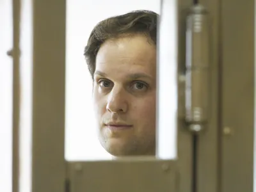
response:
<path fill-rule="evenodd" d="M 157 157 L 177 157 L 177 2 L 163 0 L 158 39 Z"/>

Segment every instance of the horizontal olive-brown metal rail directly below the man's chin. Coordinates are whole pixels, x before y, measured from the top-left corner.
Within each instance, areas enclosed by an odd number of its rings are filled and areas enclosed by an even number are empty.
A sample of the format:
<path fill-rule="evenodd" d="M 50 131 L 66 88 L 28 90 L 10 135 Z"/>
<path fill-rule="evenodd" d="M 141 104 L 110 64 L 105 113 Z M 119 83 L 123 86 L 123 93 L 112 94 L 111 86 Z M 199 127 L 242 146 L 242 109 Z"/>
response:
<path fill-rule="evenodd" d="M 175 161 L 142 157 L 118 161 L 69 162 L 70 192 L 180 191 Z"/>

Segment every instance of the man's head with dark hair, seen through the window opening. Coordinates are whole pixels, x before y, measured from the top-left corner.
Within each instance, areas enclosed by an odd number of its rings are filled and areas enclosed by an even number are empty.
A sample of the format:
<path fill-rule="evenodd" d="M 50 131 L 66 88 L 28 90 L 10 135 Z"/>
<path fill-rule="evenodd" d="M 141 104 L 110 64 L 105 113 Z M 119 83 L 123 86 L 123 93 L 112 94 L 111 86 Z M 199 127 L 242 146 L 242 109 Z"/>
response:
<path fill-rule="evenodd" d="M 97 24 L 85 47 L 99 140 L 113 156 L 155 154 L 156 33 L 156 13 L 131 12 Z"/>

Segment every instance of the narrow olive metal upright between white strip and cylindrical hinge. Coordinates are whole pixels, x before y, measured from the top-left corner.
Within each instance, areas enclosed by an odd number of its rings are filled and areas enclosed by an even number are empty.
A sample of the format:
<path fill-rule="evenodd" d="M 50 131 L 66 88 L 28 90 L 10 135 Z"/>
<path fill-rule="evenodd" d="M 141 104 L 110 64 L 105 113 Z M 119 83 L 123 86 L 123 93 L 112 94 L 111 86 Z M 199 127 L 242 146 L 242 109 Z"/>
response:
<path fill-rule="evenodd" d="M 165 0 L 168 1 L 168 0 Z M 186 63 L 186 17 L 188 15 L 188 9 L 193 5 L 191 0 L 177 0 L 178 9 L 178 74 L 183 75 L 184 66 Z M 184 114 L 185 114 L 185 82 L 178 81 L 179 86 L 179 124 L 178 124 L 178 159 L 177 167 L 179 170 L 180 177 L 180 191 L 191 191 L 193 186 L 193 138 L 191 132 L 186 130 L 186 125 L 184 124 Z"/>

